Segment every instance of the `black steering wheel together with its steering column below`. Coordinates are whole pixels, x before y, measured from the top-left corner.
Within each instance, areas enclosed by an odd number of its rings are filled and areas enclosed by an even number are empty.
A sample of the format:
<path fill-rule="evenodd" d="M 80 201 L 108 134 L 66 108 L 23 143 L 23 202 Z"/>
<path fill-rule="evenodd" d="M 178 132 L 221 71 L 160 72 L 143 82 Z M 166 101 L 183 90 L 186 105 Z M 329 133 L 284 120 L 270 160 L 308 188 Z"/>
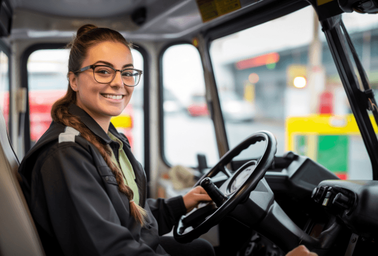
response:
<path fill-rule="evenodd" d="M 257 141 L 266 142 L 259 162 L 249 161 L 231 175 L 226 164 Z M 261 131 L 242 141 L 220 158 L 219 162 L 194 185 L 201 184 L 214 202 L 199 205 L 197 209 L 181 217 L 173 228 L 176 241 L 191 242 L 229 215 L 261 233 L 285 252 L 304 244 L 319 256 L 333 255 L 332 246 L 342 230 L 342 225 L 336 218 L 330 220 L 315 238 L 298 227 L 274 200 L 274 193 L 264 175 L 273 163 L 276 151 L 276 138 L 270 132 Z M 217 188 L 210 178 L 219 172 L 226 174 L 227 180 Z"/>

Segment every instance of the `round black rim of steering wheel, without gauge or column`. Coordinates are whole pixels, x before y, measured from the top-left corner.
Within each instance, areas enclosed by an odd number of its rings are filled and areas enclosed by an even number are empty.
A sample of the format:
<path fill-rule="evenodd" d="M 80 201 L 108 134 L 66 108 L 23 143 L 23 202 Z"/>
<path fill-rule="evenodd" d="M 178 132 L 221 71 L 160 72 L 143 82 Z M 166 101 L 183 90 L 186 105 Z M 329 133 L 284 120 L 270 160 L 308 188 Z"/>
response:
<path fill-rule="evenodd" d="M 212 167 L 209 172 L 207 172 L 201 179 L 197 181 L 194 185 L 197 186 L 199 183 L 207 178 L 207 177 L 214 177 L 218 172 L 225 173 L 231 181 L 235 175 L 239 175 L 243 170 L 247 169 L 255 162 L 254 160 L 244 164 L 241 166 L 233 175 L 231 175 L 225 165 L 231 162 L 231 160 L 239 155 L 243 150 L 248 148 L 250 145 L 258 142 L 258 141 L 265 141 L 265 148 L 264 152 L 256 164 L 254 170 L 249 174 L 249 176 L 244 179 L 241 186 L 239 186 L 236 190 L 232 191 L 232 193 L 227 194 L 226 201 L 218 208 L 215 209 L 214 212 L 210 216 L 208 216 L 201 224 L 195 226 L 193 229 L 185 232 L 186 229 L 190 226 L 185 226 L 185 216 L 182 216 L 181 219 L 176 223 L 173 228 L 173 236 L 176 241 L 180 243 L 188 243 L 191 242 L 193 239 L 198 238 L 201 234 L 206 233 L 211 227 L 215 226 L 217 223 L 220 222 L 226 215 L 228 215 L 235 207 L 242 202 L 243 199 L 249 196 L 251 191 L 256 188 L 258 182 L 264 177 L 266 170 L 268 170 L 269 166 L 271 166 L 274 155 L 277 151 L 277 141 L 274 135 L 268 131 L 260 131 L 257 133 L 252 134 L 247 139 L 240 142 L 237 146 L 235 146 L 232 150 L 227 152 L 223 157 L 221 157 L 217 164 Z M 226 181 L 227 182 L 227 181 Z M 225 193 L 224 193 L 225 194 Z M 214 206 L 215 207 L 215 206 Z"/>

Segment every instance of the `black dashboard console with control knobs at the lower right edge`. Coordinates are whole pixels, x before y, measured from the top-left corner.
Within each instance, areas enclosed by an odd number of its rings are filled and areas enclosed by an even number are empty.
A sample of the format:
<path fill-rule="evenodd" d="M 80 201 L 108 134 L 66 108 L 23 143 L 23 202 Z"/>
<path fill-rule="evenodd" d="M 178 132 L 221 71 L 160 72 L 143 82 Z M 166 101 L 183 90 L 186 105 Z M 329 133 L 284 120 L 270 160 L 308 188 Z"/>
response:
<path fill-rule="evenodd" d="M 312 199 L 352 232 L 345 255 L 378 251 L 378 181 L 324 180 Z"/>

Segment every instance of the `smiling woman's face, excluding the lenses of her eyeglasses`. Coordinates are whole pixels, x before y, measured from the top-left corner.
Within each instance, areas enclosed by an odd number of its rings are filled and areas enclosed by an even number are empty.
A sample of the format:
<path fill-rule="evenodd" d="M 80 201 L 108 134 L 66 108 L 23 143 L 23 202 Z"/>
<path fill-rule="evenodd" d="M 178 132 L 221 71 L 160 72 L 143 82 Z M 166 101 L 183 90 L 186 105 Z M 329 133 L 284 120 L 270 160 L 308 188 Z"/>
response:
<path fill-rule="evenodd" d="M 130 50 L 120 42 L 102 42 L 87 52 L 80 68 L 90 65 L 107 65 L 117 70 L 134 68 Z M 69 74 L 71 88 L 76 92 L 76 104 L 90 114 L 97 122 L 110 121 L 118 116 L 130 101 L 134 87 L 123 84 L 121 73 L 116 72 L 112 82 L 99 83 L 93 76 L 93 69 Z M 114 99 L 118 96 L 117 99 Z M 120 98 L 121 96 L 121 98 Z"/>

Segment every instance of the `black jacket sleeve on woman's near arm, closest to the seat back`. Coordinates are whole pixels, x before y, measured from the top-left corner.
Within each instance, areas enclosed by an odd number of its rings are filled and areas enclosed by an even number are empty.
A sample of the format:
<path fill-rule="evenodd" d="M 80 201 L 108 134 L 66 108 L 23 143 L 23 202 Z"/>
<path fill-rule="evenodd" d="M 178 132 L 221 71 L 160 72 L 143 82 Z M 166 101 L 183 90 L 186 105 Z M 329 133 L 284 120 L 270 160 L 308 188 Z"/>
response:
<path fill-rule="evenodd" d="M 79 144 L 59 144 L 43 160 L 39 179 L 65 255 L 156 255 L 120 224 L 92 154 Z"/>

